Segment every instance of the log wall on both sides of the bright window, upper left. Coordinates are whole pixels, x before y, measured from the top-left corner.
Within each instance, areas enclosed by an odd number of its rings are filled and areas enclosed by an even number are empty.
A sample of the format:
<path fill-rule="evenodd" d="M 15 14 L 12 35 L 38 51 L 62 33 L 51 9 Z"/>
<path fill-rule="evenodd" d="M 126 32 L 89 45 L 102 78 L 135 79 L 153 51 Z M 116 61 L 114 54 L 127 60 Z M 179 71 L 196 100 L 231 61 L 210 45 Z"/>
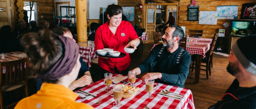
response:
<path fill-rule="evenodd" d="M 20 0 L 20 1 L 32 1 L 32 0 Z M 33 0 L 35 1 L 35 0 Z M 14 24 L 17 27 L 18 26 L 18 12 L 17 12 L 17 5 L 16 5 L 17 0 L 13 0 L 13 6 L 14 6 Z M 37 25 L 38 27 L 43 27 L 44 19 L 48 19 L 51 24 L 53 24 L 53 7 L 54 7 L 54 0 L 36 0 L 37 2 L 37 11 L 38 11 L 38 16 L 37 16 Z M 41 18 L 41 16 L 43 18 Z M 15 28 L 15 27 L 13 27 Z"/>

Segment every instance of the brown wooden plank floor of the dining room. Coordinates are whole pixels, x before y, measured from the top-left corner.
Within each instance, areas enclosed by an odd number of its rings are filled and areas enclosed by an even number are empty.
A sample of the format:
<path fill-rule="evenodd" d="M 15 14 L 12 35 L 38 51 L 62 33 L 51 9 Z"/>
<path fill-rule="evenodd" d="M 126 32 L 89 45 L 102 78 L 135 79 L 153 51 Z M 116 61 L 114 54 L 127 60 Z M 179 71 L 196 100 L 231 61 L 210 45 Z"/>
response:
<path fill-rule="evenodd" d="M 147 58 L 153 44 L 144 44 L 143 47 L 143 52 L 141 50 L 141 46 L 139 46 L 134 53 L 130 54 L 132 60 L 130 64 L 131 70 Z M 185 88 L 192 91 L 196 109 L 207 109 L 209 106 L 220 100 L 222 95 L 234 80 L 234 77 L 226 70 L 228 58 L 222 55 L 214 54 L 213 59 L 213 68 L 211 68 L 211 75 L 209 75 L 208 80 L 206 79 L 206 72 L 201 71 L 199 84 L 195 84 L 194 70 L 193 72 L 190 72 L 190 75 L 185 82 Z M 141 78 L 144 74 L 145 73 L 138 75 L 137 78 Z"/>

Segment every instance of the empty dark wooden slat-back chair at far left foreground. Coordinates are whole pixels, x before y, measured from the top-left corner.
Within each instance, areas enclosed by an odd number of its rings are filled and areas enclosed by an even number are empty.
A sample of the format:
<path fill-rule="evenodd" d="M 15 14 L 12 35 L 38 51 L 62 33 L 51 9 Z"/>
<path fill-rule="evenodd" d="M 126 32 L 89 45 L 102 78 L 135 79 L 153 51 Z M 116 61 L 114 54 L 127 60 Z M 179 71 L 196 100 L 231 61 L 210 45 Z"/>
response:
<path fill-rule="evenodd" d="M 20 59 L 20 60 L 14 60 L 14 61 L 6 61 L 6 62 L 0 62 L 0 105 L 2 108 L 8 108 L 13 105 L 16 105 L 18 100 L 17 95 L 17 101 L 15 103 L 8 104 L 4 106 L 3 102 L 3 93 L 7 93 L 13 90 L 17 90 L 20 88 L 25 88 L 25 96 L 28 97 L 28 64 L 25 68 L 25 62 L 28 62 L 28 57 Z M 6 67 L 6 72 L 3 74 L 3 67 Z M 22 91 L 17 91 L 18 93 Z"/>

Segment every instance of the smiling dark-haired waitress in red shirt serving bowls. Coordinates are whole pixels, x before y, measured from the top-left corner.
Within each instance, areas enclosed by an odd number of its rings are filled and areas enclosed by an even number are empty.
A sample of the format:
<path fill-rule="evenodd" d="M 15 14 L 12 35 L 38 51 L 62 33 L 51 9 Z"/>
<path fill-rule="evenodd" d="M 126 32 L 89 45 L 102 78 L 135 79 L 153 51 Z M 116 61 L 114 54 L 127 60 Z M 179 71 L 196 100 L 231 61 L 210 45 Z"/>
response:
<path fill-rule="evenodd" d="M 139 37 L 130 22 L 122 21 L 123 8 L 119 5 L 108 5 L 105 14 L 109 21 L 97 29 L 94 41 L 96 50 L 112 48 L 114 51 L 126 53 L 124 48 L 131 46 L 137 49 L 140 43 Z M 130 62 L 129 53 L 122 58 L 99 57 L 101 77 L 104 78 L 104 73 L 107 72 L 128 75 Z"/>

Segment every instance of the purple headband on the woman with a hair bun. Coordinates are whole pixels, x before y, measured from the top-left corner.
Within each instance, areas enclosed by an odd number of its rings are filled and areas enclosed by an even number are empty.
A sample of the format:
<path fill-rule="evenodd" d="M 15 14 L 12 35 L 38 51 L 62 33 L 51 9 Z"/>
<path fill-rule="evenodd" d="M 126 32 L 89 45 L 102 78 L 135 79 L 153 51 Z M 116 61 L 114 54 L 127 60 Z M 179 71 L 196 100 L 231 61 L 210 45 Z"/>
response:
<path fill-rule="evenodd" d="M 78 45 L 72 39 L 58 36 L 64 45 L 64 54 L 59 60 L 47 70 L 44 74 L 38 75 L 39 78 L 44 80 L 57 80 L 66 74 L 69 74 L 74 68 L 77 58 L 79 56 Z"/>

